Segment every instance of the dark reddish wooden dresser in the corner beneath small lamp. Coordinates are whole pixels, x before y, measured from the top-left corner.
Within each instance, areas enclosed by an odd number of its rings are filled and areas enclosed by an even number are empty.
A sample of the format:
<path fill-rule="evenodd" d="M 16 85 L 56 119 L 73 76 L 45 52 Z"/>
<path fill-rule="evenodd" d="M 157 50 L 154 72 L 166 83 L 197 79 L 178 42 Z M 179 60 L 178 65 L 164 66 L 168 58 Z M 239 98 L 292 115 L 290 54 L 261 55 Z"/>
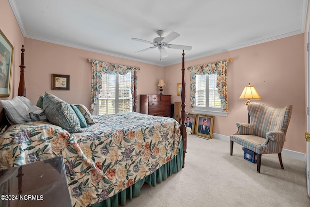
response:
<path fill-rule="evenodd" d="M 140 95 L 140 113 L 171 117 L 171 95 Z"/>

